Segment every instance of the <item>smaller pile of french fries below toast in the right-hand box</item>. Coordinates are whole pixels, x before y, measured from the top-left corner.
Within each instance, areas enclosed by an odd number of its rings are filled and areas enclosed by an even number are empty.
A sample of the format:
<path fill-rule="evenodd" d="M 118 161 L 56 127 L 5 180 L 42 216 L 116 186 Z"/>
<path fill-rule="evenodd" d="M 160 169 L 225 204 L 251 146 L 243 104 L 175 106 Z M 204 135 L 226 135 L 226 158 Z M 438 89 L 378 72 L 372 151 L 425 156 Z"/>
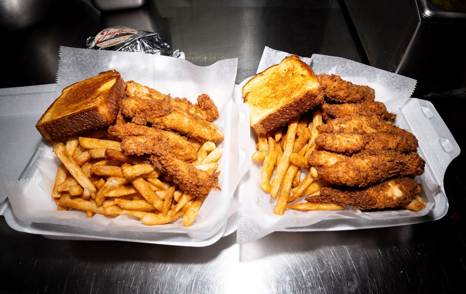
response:
<path fill-rule="evenodd" d="M 315 195 L 322 187 L 330 185 L 318 179 L 317 169 L 306 160 L 316 148 L 314 141 L 319 135 L 317 126 L 321 124 L 321 110 L 315 109 L 312 120 L 304 114 L 290 121 L 286 134 L 283 134 L 281 128 L 267 134 L 267 137 L 258 138 L 257 151 L 251 157 L 256 161 L 264 161 L 260 174 L 260 188 L 270 192 L 273 198 L 278 196 L 274 213 L 283 214 L 287 207 L 302 211 L 343 209 L 343 206 L 333 203 L 305 202 L 288 205 L 298 198 Z M 276 171 L 270 183 L 275 167 Z M 308 171 L 308 174 L 301 181 L 302 169 Z"/>

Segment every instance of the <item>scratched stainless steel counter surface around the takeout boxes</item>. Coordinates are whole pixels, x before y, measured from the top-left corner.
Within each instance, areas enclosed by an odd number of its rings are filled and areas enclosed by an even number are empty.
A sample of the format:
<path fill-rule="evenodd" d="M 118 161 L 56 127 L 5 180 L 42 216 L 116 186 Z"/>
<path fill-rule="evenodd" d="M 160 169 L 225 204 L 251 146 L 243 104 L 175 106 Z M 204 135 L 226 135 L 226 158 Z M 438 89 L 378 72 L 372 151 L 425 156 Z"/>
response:
<path fill-rule="evenodd" d="M 0 87 L 54 82 L 59 45 L 84 47 L 88 35 L 119 24 L 158 31 L 198 65 L 238 57 L 237 82 L 255 73 L 266 45 L 301 56 L 320 53 L 367 63 L 340 1 L 282 2 L 158 0 L 100 13 L 86 2 L 69 1 L 2 52 L 11 58 L 2 61 L 8 76 Z M 60 16 L 59 11 L 73 14 Z M 47 38 L 39 42 L 41 34 Z M 466 148 L 466 100 L 431 101 Z M 0 292 L 452 293 L 466 274 L 465 161 L 462 153 L 446 171 L 447 215 L 410 226 L 275 232 L 245 245 L 235 244 L 233 233 L 192 248 L 52 240 L 16 232 L 0 217 Z"/>

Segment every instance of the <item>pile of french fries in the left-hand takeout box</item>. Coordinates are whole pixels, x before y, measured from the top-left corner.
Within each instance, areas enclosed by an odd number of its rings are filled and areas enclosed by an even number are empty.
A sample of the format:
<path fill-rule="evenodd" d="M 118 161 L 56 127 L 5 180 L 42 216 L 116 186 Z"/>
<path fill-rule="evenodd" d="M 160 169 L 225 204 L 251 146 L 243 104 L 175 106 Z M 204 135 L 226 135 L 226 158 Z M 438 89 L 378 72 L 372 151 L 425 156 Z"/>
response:
<path fill-rule="evenodd" d="M 223 150 L 213 142 L 190 139 L 190 143 L 198 150 L 198 159 L 192 164 L 212 174 Z M 204 201 L 178 189 L 171 178 L 160 177 L 160 171 L 144 157 L 124 155 L 120 142 L 105 129 L 53 145 L 61 162 L 52 191 L 57 210 L 80 209 L 88 218 L 94 213 L 127 214 L 145 225 L 182 217 L 183 224 L 190 226 Z"/>

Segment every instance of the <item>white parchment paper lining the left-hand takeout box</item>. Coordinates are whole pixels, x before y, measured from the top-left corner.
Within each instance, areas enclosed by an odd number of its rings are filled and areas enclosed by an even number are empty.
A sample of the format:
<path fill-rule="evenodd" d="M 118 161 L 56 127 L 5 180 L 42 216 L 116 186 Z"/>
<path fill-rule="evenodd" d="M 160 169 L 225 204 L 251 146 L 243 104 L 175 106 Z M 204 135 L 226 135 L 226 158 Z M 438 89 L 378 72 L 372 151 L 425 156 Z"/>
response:
<path fill-rule="evenodd" d="M 165 234 L 168 237 L 164 241 L 176 239 L 178 233 L 189 234 L 193 240 L 205 240 L 209 232 L 218 232 L 219 226 L 225 226 L 226 219 L 238 209 L 239 202 L 233 198 L 233 192 L 248 168 L 244 160 L 240 163 L 238 144 L 238 121 L 240 110 L 244 106 L 235 105 L 231 101 L 237 59 L 221 60 L 211 66 L 199 67 L 188 61 L 167 56 L 62 47 L 57 89 L 61 91 L 70 84 L 109 69 L 119 71 L 125 81 L 134 80 L 173 97 L 186 97 L 193 103 L 203 93 L 212 98 L 220 113 L 219 119 L 214 123 L 225 135 L 225 140 L 218 144 L 219 148 L 224 149 L 218 169 L 221 171 L 219 185 L 222 190 L 211 191 L 196 220 L 188 228 L 183 226 L 181 219 L 167 225 L 145 226 L 131 216 L 111 218 L 96 214 L 87 219 L 85 212 L 56 211 L 55 201 L 50 194 L 59 161 L 51 146 L 44 141 L 39 147 L 38 176 L 18 182 L 1 181 L 14 214 L 28 222 L 79 226 L 95 231 L 172 232 L 172 235 Z M 60 93 L 57 93 L 57 97 L 59 95 Z M 232 122 L 235 124 L 233 128 Z M 248 122 L 246 124 L 248 125 Z M 242 157 L 245 157 L 247 151 L 242 151 Z M 239 172 L 241 169 L 242 173 Z"/>

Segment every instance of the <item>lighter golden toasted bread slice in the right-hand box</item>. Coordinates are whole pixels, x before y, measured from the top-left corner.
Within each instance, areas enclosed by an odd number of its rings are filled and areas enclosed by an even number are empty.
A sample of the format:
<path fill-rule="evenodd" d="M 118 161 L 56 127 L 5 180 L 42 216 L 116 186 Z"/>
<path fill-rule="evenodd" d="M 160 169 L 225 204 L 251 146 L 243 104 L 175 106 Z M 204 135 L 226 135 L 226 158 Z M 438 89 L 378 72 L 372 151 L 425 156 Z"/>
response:
<path fill-rule="evenodd" d="M 323 91 L 312 68 L 292 55 L 249 80 L 243 97 L 251 127 L 263 137 L 322 103 Z"/>

